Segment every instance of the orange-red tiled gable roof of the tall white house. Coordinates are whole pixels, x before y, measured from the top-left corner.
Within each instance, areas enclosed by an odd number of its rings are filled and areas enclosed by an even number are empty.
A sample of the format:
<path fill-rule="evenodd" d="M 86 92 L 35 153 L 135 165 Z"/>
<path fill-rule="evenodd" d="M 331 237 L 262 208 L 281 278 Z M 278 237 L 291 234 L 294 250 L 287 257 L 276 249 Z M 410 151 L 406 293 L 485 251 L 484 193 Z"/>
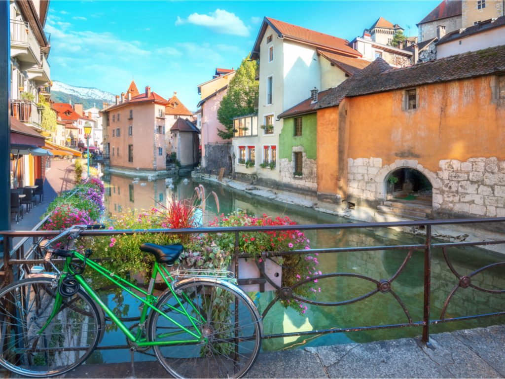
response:
<path fill-rule="evenodd" d="M 277 32 L 279 37 L 294 39 L 303 43 L 318 46 L 321 49 L 338 51 L 355 57 L 362 56 L 360 52 L 349 46 L 349 41 L 346 39 L 302 28 L 301 26 L 288 24 L 287 22 L 275 20 L 270 17 L 265 17 L 258 37 L 256 38 L 254 49 L 252 49 L 251 59 L 253 60 L 259 59 L 260 43 L 263 40 L 263 36 L 265 35 L 268 25 Z"/>

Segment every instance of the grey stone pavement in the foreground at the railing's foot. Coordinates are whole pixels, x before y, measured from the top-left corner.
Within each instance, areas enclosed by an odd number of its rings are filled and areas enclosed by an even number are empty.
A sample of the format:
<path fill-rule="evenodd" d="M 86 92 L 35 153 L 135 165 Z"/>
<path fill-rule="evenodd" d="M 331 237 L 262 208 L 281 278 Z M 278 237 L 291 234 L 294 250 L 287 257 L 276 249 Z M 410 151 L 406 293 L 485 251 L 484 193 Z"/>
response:
<path fill-rule="evenodd" d="M 431 335 L 433 349 L 418 338 L 308 347 L 260 353 L 247 378 L 467 378 L 505 377 L 505 326 Z M 56 377 L 125 378 L 129 362 L 84 364 Z M 135 363 L 138 378 L 170 377 L 153 361 Z M 9 377 L 9 376 L 7 376 Z M 11 375 L 10 377 L 19 377 Z"/>

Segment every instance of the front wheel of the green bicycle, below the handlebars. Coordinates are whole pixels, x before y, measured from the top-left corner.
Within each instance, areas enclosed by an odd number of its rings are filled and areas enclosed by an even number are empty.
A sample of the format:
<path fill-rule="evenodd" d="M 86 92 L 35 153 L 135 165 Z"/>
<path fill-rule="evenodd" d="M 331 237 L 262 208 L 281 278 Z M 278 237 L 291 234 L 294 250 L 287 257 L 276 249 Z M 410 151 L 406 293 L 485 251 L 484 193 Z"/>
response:
<path fill-rule="evenodd" d="M 0 291 L 0 364 L 20 375 L 62 374 L 84 362 L 98 344 L 100 317 L 79 290 L 55 308 L 58 282 L 27 278 Z"/>

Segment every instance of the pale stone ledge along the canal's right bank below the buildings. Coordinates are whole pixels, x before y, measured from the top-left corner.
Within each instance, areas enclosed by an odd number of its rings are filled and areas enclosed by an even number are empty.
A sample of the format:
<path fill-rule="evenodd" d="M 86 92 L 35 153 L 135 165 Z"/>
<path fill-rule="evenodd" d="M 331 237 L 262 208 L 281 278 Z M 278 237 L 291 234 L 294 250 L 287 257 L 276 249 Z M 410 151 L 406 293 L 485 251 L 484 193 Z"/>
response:
<path fill-rule="evenodd" d="M 291 204 L 299 207 L 305 207 L 309 209 L 314 209 L 317 212 L 322 212 L 338 217 L 344 217 L 349 220 L 355 221 L 365 221 L 370 222 L 370 212 L 363 211 L 360 209 L 342 209 L 340 212 L 330 211 L 323 208 L 317 207 L 316 199 L 310 196 L 296 195 L 293 196 L 292 193 L 274 190 L 268 187 L 262 187 L 256 184 L 247 184 L 241 181 L 223 178 L 222 181 L 218 180 L 217 175 L 204 174 L 204 173 L 192 173 L 192 178 L 196 180 L 202 180 L 211 182 L 214 184 L 220 184 L 225 187 L 236 189 L 237 191 L 242 191 L 247 194 L 260 196 L 269 199 L 274 202 L 279 202 L 281 204 Z M 383 221 L 408 221 L 406 219 L 395 218 L 394 220 L 383 220 Z M 426 231 L 423 227 L 410 226 L 410 227 L 393 227 L 395 230 L 403 231 L 410 234 L 416 235 L 426 235 Z M 485 230 L 478 225 L 451 225 L 448 226 L 433 226 L 432 236 L 440 240 L 448 242 L 482 242 L 482 241 L 502 241 L 505 239 L 505 229 L 504 233 L 499 233 L 496 231 Z M 481 246 L 483 249 L 494 251 L 500 254 L 505 254 L 505 245 L 487 245 Z"/>

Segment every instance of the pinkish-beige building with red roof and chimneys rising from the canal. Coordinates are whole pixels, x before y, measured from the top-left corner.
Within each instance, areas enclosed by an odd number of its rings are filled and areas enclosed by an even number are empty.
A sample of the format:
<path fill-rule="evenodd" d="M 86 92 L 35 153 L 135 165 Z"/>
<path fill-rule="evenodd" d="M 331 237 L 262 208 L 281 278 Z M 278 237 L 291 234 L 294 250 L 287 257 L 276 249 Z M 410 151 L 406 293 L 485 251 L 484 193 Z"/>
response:
<path fill-rule="evenodd" d="M 165 109 L 169 102 L 149 86 L 138 93 L 135 82 L 116 103 L 100 113 L 104 125 L 104 145 L 109 151 L 110 170 L 138 176 L 167 174 L 165 163 Z"/>

